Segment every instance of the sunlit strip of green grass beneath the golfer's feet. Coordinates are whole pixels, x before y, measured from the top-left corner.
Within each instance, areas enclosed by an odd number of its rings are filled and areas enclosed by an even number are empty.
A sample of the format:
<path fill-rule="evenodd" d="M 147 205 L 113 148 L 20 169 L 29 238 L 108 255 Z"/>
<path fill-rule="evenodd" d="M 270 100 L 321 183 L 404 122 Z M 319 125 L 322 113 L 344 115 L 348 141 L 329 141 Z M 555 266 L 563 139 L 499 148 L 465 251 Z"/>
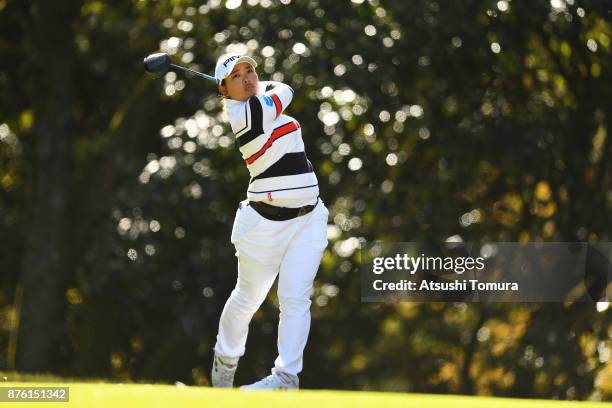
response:
<path fill-rule="evenodd" d="M 612 403 L 521 400 L 465 397 L 455 395 L 398 394 L 382 392 L 314 391 L 244 392 L 208 387 L 171 385 L 106 384 L 79 382 L 7 382 L 0 387 L 68 386 L 69 403 L 45 406 L 121 408 L 121 407 L 248 407 L 248 408 L 612 408 Z M 0 403 L 0 406 L 40 407 L 38 403 Z"/>

